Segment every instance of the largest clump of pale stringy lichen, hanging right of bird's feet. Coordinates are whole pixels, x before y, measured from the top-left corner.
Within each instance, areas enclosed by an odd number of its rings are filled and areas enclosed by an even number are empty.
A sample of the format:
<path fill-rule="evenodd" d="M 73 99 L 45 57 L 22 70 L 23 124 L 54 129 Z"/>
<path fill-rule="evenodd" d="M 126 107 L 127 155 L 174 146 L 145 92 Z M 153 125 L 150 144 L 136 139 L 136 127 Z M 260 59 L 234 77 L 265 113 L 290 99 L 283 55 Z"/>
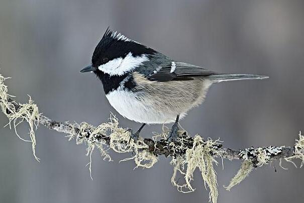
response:
<path fill-rule="evenodd" d="M 174 166 L 171 182 L 180 192 L 192 192 L 194 188 L 191 186 L 193 180 L 193 172 L 196 168 L 200 170 L 201 177 L 204 180 L 205 187 L 210 188 L 209 197 L 212 202 L 217 202 L 218 183 L 217 176 L 213 164 L 218 164 L 213 155 L 218 153 L 214 150 L 214 146 L 219 144 L 219 140 L 211 139 L 204 141 L 203 138 L 196 135 L 193 139 L 192 148 L 186 149 L 184 156 L 173 158 L 170 164 Z M 220 154 L 217 154 L 220 155 Z M 185 183 L 181 184 L 176 180 L 177 173 L 184 176 Z"/>

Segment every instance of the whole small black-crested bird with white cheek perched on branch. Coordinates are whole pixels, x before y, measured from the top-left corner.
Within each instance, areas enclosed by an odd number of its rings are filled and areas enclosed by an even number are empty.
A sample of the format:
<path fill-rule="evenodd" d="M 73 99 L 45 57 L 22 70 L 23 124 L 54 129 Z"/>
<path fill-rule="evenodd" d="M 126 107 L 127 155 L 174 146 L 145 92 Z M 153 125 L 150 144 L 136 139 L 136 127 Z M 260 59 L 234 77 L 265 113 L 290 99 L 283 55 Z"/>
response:
<path fill-rule="evenodd" d="M 106 97 L 123 117 L 142 123 L 132 138 L 138 139 L 146 124 L 173 123 L 168 136 L 177 137 L 178 120 L 200 105 L 209 87 L 222 81 L 264 79 L 253 74 L 222 74 L 175 61 L 109 28 L 97 44 L 91 65 L 103 83 Z"/>

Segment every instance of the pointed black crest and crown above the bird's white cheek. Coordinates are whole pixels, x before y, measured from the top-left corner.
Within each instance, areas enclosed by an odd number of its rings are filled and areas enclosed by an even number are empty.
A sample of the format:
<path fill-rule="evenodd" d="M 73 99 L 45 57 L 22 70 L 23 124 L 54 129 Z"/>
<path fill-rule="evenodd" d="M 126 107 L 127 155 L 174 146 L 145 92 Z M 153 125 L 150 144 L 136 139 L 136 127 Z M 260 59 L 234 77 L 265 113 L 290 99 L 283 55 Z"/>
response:
<path fill-rule="evenodd" d="M 98 67 L 115 58 L 124 58 L 130 52 L 133 56 L 140 56 L 151 55 L 156 51 L 108 28 L 94 50 L 92 65 Z"/>

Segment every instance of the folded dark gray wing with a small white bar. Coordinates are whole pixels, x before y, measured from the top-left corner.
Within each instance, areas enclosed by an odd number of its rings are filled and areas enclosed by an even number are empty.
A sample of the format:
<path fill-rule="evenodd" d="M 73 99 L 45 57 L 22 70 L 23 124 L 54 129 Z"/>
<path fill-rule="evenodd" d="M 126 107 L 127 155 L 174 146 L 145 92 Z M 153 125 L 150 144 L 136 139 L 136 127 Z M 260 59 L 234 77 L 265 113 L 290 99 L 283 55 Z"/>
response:
<path fill-rule="evenodd" d="M 171 61 L 158 66 L 152 74 L 147 75 L 151 81 L 192 80 L 195 77 L 206 77 L 218 74 L 214 71 L 184 62 Z"/>

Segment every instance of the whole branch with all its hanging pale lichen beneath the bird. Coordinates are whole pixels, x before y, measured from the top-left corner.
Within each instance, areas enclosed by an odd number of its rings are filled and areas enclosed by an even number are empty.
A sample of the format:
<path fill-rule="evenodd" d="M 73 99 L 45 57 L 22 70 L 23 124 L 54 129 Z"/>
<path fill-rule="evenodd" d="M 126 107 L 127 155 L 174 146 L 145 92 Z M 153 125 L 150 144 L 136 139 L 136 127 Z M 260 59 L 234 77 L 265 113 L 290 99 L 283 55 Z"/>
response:
<path fill-rule="evenodd" d="M 239 159 L 243 160 L 243 164 L 232 178 L 227 189 L 230 190 L 234 185 L 240 183 L 253 168 L 268 164 L 273 160 L 285 159 L 291 161 L 293 158 L 302 160 L 300 166 L 304 164 L 304 136 L 299 133 L 299 139 L 292 147 L 285 146 L 269 146 L 246 149 L 230 149 L 225 148 L 219 140 L 204 139 L 199 135 L 190 137 L 186 132 L 179 131 L 179 138 L 174 143 L 168 143 L 166 136 L 168 132 L 154 134 L 152 138 L 140 137 L 138 141 L 130 139 L 130 131 L 119 127 L 118 120 L 114 115 L 106 123 L 102 123 L 97 127 L 89 125 L 86 122 L 80 124 L 69 122 L 53 121 L 50 118 L 38 112 L 38 107 L 29 100 L 27 104 L 19 104 L 13 96 L 8 94 L 8 88 L 4 84 L 7 78 L 0 74 L 0 105 L 3 113 L 9 118 L 8 125 L 12 126 L 17 134 L 16 126 L 23 121 L 26 121 L 30 127 L 30 139 L 22 140 L 32 142 L 32 149 L 35 154 L 35 128 L 38 124 L 45 126 L 48 129 L 64 133 L 69 140 L 75 139 L 76 144 L 84 143 L 87 145 L 87 155 L 91 157 L 92 151 L 98 149 L 104 159 L 111 160 L 108 153 L 109 149 L 118 153 L 132 152 L 133 156 L 122 161 L 133 159 L 136 167 L 150 168 L 157 162 L 157 157 L 164 155 L 171 157 L 171 164 L 174 167 L 171 182 L 181 192 L 191 192 L 194 189 L 191 186 L 193 172 L 198 168 L 204 180 L 205 187 L 210 188 L 210 199 L 213 202 L 217 201 L 217 178 L 214 170 L 214 164 L 217 164 L 215 158 L 222 159 Z M 91 160 L 91 159 L 90 159 Z M 88 163 L 91 171 L 91 161 Z M 178 173 L 184 176 L 184 183 L 176 181 Z"/>

